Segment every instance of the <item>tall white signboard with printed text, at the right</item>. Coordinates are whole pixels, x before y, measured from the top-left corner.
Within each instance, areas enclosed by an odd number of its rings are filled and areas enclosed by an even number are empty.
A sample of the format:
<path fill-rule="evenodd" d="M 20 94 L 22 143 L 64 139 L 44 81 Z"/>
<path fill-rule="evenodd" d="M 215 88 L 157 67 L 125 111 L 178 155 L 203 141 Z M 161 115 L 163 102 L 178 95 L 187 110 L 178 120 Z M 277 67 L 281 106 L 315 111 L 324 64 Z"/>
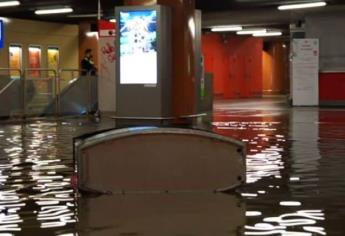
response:
<path fill-rule="evenodd" d="M 292 103 L 319 105 L 319 40 L 292 41 Z"/>

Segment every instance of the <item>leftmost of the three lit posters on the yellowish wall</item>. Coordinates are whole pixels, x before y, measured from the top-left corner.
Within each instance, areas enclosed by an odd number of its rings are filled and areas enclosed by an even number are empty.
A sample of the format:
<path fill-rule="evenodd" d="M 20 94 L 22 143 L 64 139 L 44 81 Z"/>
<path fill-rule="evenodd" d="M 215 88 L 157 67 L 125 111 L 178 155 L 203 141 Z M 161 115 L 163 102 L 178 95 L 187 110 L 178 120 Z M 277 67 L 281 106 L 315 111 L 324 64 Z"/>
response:
<path fill-rule="evenodd" d="M 22 69 L 23 63 L 23 49 L 20 45 L 11 44 L 9 46 L 9 67 L 11 69 L 10 75 L 12 79 L 19 79 L 20 78 L 20 71 Z"/>

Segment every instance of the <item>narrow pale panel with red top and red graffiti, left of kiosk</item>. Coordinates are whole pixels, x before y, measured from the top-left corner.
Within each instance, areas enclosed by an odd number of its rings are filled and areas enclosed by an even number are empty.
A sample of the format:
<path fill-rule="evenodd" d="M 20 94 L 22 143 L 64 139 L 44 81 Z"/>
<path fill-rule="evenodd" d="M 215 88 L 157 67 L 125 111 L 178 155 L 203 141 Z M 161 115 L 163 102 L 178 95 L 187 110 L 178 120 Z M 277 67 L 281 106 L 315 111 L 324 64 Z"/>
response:
<path fill-rule="evenodd" d="M 98 100 L 101 112 L 115 112 L 115 23 L 99 21 L 99 82 Z"/>

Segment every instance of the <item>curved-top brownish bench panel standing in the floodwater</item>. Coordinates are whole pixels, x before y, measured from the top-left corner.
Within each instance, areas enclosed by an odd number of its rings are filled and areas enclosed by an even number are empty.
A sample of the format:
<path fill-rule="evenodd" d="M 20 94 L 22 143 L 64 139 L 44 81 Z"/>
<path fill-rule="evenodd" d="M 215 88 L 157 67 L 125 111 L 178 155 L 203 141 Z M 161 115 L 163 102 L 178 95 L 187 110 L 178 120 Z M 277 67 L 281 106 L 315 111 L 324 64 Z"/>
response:
<path fill-rule="evenodd" d="M 84 191 L 226 191 L 245 181 L 244 144 L 200 130 L 110 130 L 76 139 L 74 150 Z"/>

